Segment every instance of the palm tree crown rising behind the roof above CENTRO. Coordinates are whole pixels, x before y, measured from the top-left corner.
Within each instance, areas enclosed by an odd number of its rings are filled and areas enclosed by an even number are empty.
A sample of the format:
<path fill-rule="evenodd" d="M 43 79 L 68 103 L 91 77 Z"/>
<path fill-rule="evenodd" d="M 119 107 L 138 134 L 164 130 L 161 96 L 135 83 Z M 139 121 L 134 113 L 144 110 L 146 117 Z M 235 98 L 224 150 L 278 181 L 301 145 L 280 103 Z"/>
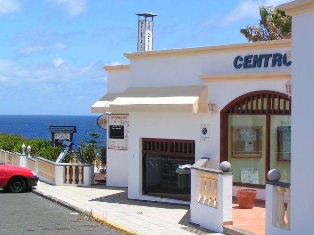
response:
<path fill-rule="evenodd" d="M 249 24 L 240 33 L 249 42 L 291 38 L 291 16 L 286 16 L 278 6 L 260 6 L 260 24 Z"/>

